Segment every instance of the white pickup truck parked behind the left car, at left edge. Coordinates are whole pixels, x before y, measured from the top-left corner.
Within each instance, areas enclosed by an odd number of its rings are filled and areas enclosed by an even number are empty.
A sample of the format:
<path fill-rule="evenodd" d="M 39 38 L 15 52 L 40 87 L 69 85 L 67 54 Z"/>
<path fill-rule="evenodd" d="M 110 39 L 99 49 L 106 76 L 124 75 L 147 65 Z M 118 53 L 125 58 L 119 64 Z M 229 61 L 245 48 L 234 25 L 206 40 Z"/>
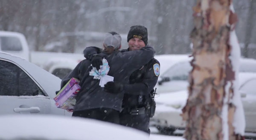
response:
<path fill-rule="evenodd" d="M 84 59 L 82 53 L 30 51 L 25 36 L 10 31 L 0 31 L 0 51 L 26 59 L 59 78 L 67 75 Z"/>

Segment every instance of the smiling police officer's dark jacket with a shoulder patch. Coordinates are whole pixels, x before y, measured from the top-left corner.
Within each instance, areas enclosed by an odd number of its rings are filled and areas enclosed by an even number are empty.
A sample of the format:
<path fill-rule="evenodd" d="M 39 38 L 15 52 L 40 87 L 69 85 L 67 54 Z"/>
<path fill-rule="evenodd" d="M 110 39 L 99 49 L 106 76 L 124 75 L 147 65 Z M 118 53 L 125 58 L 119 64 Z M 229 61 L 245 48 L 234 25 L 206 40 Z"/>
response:
<path fill-rule="evenodd" d="M 84 57 L 91 59 L 96 53 L 100 53 L 102 50 L 96 47 L 87 47 L 84 50 Z M 128 52 L 129 49 L 122 50 L 121 52 Z M 143 56 L 139 56 L 142 59 Z M 138 59 L 138 60 L 140 60 Z M 158 72 L 156 72 L 155 65 L 159 66 Z M 130 78 L 129 83 L 124 84 L 124 98 L 123 108 L 137 108 L 145 106 L 145 102 L 150 98 L 150 92 L 153 90 L 157 83 L 159 76 L 160 63 L 157 59 L 151 59 L 147 64 L 143 65 L 136 71 L 134 71 Z M 139 98 L 142 95 L 142 98 Z"/>

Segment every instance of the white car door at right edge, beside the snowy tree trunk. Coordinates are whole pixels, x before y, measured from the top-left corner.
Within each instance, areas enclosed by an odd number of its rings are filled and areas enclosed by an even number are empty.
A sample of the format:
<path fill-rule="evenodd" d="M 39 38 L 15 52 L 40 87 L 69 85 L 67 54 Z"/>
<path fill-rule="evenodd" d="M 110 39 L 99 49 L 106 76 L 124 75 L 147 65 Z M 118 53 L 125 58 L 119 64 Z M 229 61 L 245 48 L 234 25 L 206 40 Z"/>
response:
<path fill-rule="evenodd" d="M 241 85 L 241 99 L 244 107 L 246 131 L 256 132 L 256 78 Z"/>

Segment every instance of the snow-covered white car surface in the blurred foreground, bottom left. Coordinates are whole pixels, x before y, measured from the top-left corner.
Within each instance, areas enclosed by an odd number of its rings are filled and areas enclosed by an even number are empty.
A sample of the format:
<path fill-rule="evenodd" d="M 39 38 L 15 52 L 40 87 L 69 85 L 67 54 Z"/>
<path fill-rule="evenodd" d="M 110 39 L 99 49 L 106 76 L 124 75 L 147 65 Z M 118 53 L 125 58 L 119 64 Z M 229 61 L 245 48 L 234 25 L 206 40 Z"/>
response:
<path fill-rule="evenodd" d="M 0 124 L 0 140 L 149 140 L 136 129 L 79 117 L 4 115 Z"/>

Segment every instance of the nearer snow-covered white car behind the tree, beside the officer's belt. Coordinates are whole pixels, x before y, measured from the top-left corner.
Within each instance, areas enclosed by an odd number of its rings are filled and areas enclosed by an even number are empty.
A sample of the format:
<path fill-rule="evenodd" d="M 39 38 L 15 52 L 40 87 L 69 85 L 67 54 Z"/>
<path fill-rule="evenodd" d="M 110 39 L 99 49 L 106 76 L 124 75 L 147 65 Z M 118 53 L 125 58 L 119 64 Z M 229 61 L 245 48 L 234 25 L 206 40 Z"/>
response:
<path fill-rule="evenodd" d="M 246 120 L 246 132 L 256 132 L 256 73 L 239 73 L 239 92 Z M 185 122 L 180 114 L 186 105 L 188 91 L 182 90 L 160 94 L 156 97 L 156 111 L 151 119 L 151 126 L 156 126 L 161 133 L 172 134 L 176 129 L 184 129 Z"/>

